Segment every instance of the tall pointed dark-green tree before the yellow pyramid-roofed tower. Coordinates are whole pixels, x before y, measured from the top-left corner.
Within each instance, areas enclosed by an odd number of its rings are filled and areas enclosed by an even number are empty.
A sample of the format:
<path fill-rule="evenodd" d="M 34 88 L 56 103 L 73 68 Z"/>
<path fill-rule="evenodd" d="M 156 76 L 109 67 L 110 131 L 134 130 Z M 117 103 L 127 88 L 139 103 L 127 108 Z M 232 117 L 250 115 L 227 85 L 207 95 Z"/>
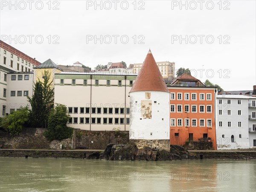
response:
<path fill-rule="evenodd" d="M 32 127 L 44 127 L 54 105 L 54 90 L 51 87 L 53 80 L 50 81 L 50 73 L 46 70 L 43 76 L 43 82 L 39 80 L 34 84 L 33 96 L 27 97 L 31 105 L 29 124 Z"/>

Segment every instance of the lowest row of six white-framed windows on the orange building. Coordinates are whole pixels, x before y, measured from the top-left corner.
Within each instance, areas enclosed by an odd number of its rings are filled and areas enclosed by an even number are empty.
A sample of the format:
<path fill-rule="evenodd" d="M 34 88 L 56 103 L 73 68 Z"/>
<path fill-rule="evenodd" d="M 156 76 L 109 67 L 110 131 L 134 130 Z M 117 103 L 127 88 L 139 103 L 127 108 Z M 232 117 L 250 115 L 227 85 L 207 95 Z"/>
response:
<path fill-rule="evenodd" d="M 198 119 L 191 119 L 191 126 L 192 127 L 197 127 L 197 120 Z M 182 127 L 183 126 L 183 119 L 171 119 L 171 127 L 176 127 L 176 122 L 177 122 L 177 127 Z M 207 127 L 212 127 L 212 119 L 207 119 Z M 190 119 L 184 119 L 184 126 L 189 127 L 190 126 Z M 205 127 L 205 119 L 199 119 L 199 126 L 200 127 Z"/>

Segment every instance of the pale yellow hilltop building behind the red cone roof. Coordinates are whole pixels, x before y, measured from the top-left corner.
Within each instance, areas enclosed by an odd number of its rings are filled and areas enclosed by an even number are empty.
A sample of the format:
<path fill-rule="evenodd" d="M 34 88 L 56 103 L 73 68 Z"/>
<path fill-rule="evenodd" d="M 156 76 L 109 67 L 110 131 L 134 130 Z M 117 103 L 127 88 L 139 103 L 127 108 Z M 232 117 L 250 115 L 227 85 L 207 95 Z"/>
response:
<path fill-rule="evenodd" d="M 143 63 L 134 64 L 133 72 L 139 73 L 142 64 Z M 169 80 L 172 80 L 175 77 L 175 62 L 172 62 L 172 63 L 169 61 L 157 62 L 157 67 L 159 68 L 163 78 L 168 78 Z"/>

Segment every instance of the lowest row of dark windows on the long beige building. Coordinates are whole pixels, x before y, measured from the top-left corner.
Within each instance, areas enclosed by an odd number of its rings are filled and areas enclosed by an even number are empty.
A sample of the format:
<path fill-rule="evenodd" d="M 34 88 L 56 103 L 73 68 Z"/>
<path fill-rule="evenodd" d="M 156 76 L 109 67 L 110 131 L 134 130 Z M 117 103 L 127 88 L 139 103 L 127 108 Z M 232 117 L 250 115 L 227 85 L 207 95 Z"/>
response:
<path fill-rule="evenodd" d="M 73 124 L 90 124 L 90 117 L 70 117 L 68 123 Z M 105 118 L 105 117 L 92 117 L 91 124 L 130 124 L 130 118 Z"/>

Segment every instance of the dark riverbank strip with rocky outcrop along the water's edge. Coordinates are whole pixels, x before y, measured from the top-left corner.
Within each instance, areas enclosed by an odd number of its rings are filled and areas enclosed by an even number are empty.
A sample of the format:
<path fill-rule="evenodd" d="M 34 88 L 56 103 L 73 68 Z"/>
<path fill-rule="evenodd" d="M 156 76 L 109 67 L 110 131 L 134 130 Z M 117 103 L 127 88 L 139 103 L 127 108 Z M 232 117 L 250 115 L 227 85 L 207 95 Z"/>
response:
<path fill-rule="evenodd" d="M 143 148 L 134 152 L 125 146 L 109 144 L 104 150 L 75 149 L 75 150 L 42 150 L 42 149 L 0 149 L 0 157 L 52 157 L 52 158 L 80 158 L 106 160 L 184 160 L 184 159 L 256 159 L 256 149 L 219 150 L 219 151 L 186 151 L 182 147 L 171 146 L 171 152 L 154 151 Z M 131 152 L 133 151 L 133 152 Z M 136 153 L 136 155 L 134 155 Z"/>

